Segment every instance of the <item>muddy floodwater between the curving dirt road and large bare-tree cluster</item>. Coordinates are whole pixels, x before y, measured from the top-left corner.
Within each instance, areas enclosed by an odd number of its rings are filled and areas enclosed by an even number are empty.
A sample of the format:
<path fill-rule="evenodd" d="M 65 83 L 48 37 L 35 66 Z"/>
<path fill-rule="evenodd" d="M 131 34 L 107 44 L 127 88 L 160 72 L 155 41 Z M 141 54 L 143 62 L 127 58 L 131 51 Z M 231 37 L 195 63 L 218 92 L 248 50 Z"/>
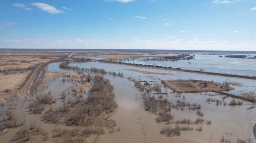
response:
<path fill-rule="evenodd" d="M 49 137 L 52 135 L 52 130 L 56 127 L 62 127 L 62 125 L 56 125 L 52 123 L 46 123 L 43 121 L 42 117 L 43 114 L 46 110 L 48 110 L 50 107 L 53 109 L 58 108 L 59 106 L 62 105 L 60 95 L 62 91 L 68 92 L 71 91 L 72 87 L 74 85 L 72 82 L 62 82 L 62 78 L 57 78 L 56 80 L 50 81 L 48 83 L 48 86 L 46 89 L 44 89 L 41 92 L 38 92 L 37 95 L 39 94 L 48 94 L 48 91 L 51 91 L 51 95 L 53 98 L 56 98 L 56 103 L 53 103 L 52 105 L 45 105 L 45 110 L 41 114 L 31 114 L 29 112 L 29 104 L 31 101 L 29 100 L 21 100 L 20 98 L 13 98 L 13 101 L 10 103 L 5 103 L 4 107 L 1 107 L 1 110 L 6 110 L 8 107 L 10 107 L 10 104 L 13 105 L 15 104 L 16 106 L 11 106 L 13 107 L 12 111 L 14 114 L 19 116 L 19 118 L 25 118 L 26 119 L 26 125 L 29 126 L 31 122 L 35 122 L 35 125 L 41 126 L 42 130 L 45 130 L 45 132 L 49 133 Z M 3 117 L 3 116 L 2 116 Z M 2 117 L 0 119 L 2 120 Z M 24 125 L 23 125 L 24 126 Z M 21 126 L 21 127 L 23 127 Z M 19 136 L 17 136 L 17 132 L 19 131 L 20 127 L 17 128 L 12 128 L 12 129 L 6 129 L 6 133 L 0 134 L 0 140 L 3 143 L 11 142 L 11 143 L 16 143 L 19 140 Z M 37 140 L 40 138 L 40 136 L 35 137 Z M 31 139 L 33 140 L 33 138 Z M 40 139 L 38 139 L 40 141 Z M 46 142 L 54 142 L 53 139 L 48 139 Z"/>

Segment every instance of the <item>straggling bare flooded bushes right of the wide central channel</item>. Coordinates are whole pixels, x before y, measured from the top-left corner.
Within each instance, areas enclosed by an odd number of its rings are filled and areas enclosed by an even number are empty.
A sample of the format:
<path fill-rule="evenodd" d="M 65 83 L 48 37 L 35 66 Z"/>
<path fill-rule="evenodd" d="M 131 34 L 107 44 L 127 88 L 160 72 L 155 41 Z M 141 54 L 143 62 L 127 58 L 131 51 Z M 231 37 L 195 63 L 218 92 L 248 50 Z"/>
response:
<path fill-rule="evenodd" d="M 189 107 L 189 110 L 197 110 L 198 116 L 204 116 L 204 113 L 199 110 L 199 109 L 201 109 L 201 105 L 197 104 L 197 103 L 193 103 L 193 104 L 191 104 L 189 102 L 186 103 L 185 96 L 182 96 L 182 101 L 177 100 L 176 104 L 172 104 L 167 99 L 162 99 L 162 97 L 160 99 L 159 98 L 157 99 L 157 98 L 155 98 L 155 96 L 151 96 L 151 94 L 148 94 L 145 90 L 145 87 L 143 87 L 143 85 L 141 85 L 138 81 L 136 81 L 132 78 L 128 78 L 128 80 L 133 81 L 134 86 L 139 88 L 140 91 L 143 92 L 143 94 L 141 94 L 141 95 L 143 98 L 144 108 L 147 111 L 157 114 L 156 122 L 166 122 L 167 124 L 169 124 L 169 123 L 176 124 L 175 128 L 173 128 L 171 126 L 163 127 L 163 129 L 160 131 L 161 134 L 165 134 L 167 136 L 179 136 L 180 131 L 193 130 L 193 127 L 189 127 L 189 126 L 180 127 L 177 124 L 200 125 L 195 129 L 197 131 L 202 131 L 201 125 L 204 123 L 206 123 L 206 125 L 211 125 L 211 121 L 208 121 L 208 120 L 204 121 L 204 119 L 202 119 L 202 118 L 197 118 L 194 121 L 192 121 L 192 118 L 191 118 L 191 120 L 184 118 L 184 119 L 178 119 L 178 120 L 172 122 L 172 120 L 174 119 L 174 116 L 171 114 L 171 109 L 184 110 L 183 107 L 187 106 L 187 107 Z M 143 87 L 143 88 L 141 88 L 141 87 Z M 161 87 L 161 85 L 157 85 L 156 87 Z M 144 89 L 144 90 L 141 90 L 141 89 Z M 181 98 L 181 95 L 179 94 L 176 97 Z M 211 101 L 211 99 L 209 99 L 209 100 Z"/>

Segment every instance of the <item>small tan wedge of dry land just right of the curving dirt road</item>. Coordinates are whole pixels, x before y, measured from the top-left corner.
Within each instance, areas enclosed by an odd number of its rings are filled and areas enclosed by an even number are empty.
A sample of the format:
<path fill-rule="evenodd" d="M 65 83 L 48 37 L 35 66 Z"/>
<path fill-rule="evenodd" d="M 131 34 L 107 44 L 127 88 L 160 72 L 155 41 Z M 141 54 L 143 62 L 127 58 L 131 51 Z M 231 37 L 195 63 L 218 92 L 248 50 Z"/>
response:
<path fill-rule="evenodd" d="M 41 90 L 45 89 L 45 87 L 47 86 L 47 84 L 50 81 L 55 80 L 56 78 L 59 78 L 59 77 L 64 76 L 64 75 L 65 75 L 65 73 L 63 73 L 63 72 L 46 70 L 43 80 L 37 86 L 37 91 L 41 91 Z"/>

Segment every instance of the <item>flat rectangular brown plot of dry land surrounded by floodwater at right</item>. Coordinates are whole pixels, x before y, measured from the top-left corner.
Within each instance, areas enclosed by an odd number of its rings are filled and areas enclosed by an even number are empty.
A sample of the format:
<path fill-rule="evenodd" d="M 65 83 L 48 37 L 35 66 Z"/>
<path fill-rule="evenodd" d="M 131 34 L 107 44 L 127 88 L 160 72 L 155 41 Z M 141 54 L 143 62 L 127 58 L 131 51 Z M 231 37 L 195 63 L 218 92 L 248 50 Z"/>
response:
<path fill-rule="evenodd" d="M 163 82 L 177 93 L 231 91 L 234 89 L 233 87 L 229 87 L 213 81 L 165 80 Z"/>

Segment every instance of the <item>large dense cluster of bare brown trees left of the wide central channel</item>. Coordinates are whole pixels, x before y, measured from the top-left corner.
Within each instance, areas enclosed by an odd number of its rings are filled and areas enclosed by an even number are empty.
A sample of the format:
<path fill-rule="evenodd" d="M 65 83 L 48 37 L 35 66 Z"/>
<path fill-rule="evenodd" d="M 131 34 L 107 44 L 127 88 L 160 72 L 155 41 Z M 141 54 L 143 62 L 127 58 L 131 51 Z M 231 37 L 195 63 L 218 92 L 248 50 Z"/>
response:
<path fill-rule="evenodd" d="M 65 96 L 64 93 L 61 94 L 61 98 L 65 99 Z M 51 123 L 63 121 L 66 125 L 93 125 L 95 119 L 99 119 L 98 117 L 101 117 L 103 112 L 113 112 L 116 107 L 113 86 L 103 76 L 96 75 L 90 95 L 86 99 L 83 98 L 82 94 L 67 98 L 67 100 L 63 100 L 61 107 L 48 109 L 44 113 L 43 119 Z M 61 118 L 63 120 L 60 120 Z M 103 119 L 102 121 L 108 122 L 106 124 L 109 127 L 115 126 L 115 121 L 111 119 Z"/>

